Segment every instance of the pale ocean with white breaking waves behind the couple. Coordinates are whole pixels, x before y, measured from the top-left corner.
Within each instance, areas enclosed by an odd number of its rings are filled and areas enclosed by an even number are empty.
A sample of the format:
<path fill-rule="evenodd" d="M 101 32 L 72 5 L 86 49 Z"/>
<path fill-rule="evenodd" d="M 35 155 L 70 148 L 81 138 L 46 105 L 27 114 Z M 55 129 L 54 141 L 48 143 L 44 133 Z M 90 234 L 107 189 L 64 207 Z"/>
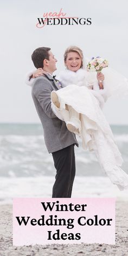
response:
<path fill-rule="evenodd" d="M 122 169 L 128 174 L 128 126 L 111 128 L 124 159 Z M 94 152 L 84 151 L 80 138 L 78 141 L 72 196 L 128 200 L 127 190 L 119 191 L 101 170 Z M 41 124 L 1 123 L 0 152 L 0 203 L 10 203 L 14 197 L 52 196 L 56 170 L 44 144 Z"/>

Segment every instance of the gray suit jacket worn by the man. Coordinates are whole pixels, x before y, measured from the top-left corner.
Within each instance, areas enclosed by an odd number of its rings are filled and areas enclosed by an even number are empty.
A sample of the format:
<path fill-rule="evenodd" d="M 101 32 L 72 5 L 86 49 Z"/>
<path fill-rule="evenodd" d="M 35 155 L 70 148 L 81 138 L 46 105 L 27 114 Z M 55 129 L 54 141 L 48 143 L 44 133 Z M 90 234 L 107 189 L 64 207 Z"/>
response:
<path fill-rule="evenodd" d="M 64 86 L 62 85 L 62 87 Z M 36 78 L 31 91 L 36 111 L 43 126 L 44 141 L 49 153 L 72 144 L 78 146 L 74 133 L 67 130 L 65 121 L 57 118 L 51 108 L 50 94 L 53 90 L 57 91 L 57 89 L 60 89 L 60 86 L 48 74 Z"/>

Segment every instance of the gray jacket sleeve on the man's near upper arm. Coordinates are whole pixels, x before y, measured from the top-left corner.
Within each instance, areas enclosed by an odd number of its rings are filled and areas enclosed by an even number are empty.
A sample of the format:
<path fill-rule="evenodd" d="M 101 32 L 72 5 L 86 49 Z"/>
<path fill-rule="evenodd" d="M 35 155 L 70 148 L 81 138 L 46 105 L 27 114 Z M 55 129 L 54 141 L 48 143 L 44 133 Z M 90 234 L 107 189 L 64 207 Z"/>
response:
<path fill-rule="evenodd" d="M 52 92 L 52 89 L 50 88 L 49 81 L 45 82 L 41 79 L 38 79 L 33 87 L 33 93 L 36 97 L 36 99 L 39 101 L 40 106 L 42 107 L 44 113 L 47 114 L 49 118 L 56 118 L 52 107 L 51 107 L 51 100 L 50 100 L 50 94 Z"/>

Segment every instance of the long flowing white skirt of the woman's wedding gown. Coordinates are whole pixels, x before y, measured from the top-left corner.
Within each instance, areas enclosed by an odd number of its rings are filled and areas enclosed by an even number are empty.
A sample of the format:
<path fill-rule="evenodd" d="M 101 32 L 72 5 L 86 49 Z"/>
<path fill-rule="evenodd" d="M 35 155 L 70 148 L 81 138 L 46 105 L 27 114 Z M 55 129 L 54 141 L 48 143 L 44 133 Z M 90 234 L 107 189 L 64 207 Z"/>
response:
<path fill-rule="evenodd" d="M 67 122 L 71 120 L 70 111 L 74 113 L 73 123 L 78 125 L 80 121 L 79 136 L 83 148 L 95 152 L 101 168 L 113 184 L 120 190 L 128 189 L 128 175 L 120 168 L 123 159 L 114 142 L 110 125 L 91 90 L 85 86 L 69 85 L 55 93 L 60 102 L 60 108 L 52 102 L 56 116 Z M 66 106 L 70 111 L 66 110 Z"/>

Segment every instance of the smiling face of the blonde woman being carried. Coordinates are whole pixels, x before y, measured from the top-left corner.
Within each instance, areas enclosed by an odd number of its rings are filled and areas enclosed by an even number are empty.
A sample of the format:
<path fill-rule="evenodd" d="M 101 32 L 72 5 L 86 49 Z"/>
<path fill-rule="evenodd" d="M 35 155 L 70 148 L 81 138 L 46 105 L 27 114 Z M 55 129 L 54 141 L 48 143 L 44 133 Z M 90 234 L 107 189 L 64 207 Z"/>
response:
<path fill-rule="evenodd" d="M 81 67 L 82 60 L 80 55 L 77 52 L 69 52 L 67 55 L 67 59 L 65 61 L 65 65 L 71 71 L 78 71 Z"/>

